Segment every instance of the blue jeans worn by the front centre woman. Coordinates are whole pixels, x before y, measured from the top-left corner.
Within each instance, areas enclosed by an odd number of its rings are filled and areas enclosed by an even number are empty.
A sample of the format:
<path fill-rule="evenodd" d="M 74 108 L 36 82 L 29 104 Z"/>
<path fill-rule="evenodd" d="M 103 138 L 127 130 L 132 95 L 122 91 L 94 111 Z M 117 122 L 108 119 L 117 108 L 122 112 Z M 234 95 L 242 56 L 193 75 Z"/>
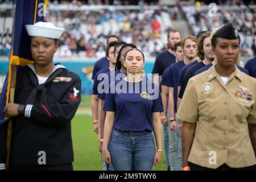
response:
<path fill-rule="evenodd" d="M 151 171 L 155 157 L 152 132 L 113 129 L 109 152 L 115 171 Z"/>

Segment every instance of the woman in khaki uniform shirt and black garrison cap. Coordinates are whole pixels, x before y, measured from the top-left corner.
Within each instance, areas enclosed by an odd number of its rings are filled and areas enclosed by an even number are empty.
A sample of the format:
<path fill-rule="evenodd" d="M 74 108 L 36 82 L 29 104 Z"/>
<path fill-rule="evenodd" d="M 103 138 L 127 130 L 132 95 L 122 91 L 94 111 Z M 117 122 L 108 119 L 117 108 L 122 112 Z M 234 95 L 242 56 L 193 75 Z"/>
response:
<path fill-rule="evenodd" d="M 189 80 L 177 111 L 183 171 L 254 170 L 256 79 L 237 69 L 240 36 L 231 23 L 210 39 L 217 63 Z"/>

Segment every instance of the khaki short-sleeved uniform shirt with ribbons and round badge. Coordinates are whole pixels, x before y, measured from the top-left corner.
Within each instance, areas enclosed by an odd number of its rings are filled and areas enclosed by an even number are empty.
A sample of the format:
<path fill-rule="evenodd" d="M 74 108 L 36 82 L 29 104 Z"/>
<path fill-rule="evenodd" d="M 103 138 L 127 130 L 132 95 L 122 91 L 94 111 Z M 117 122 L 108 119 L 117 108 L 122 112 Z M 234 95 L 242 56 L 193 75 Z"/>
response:
<path fill-rule="evenodd" d="M 256 124 L 256 79 L 237 67 L 226 85 L 212 66 L 192 77 L 185 89 L 177 118 L 197 123 L 188 161 L 218 168 L 256 164 L 248 123 Z"/>

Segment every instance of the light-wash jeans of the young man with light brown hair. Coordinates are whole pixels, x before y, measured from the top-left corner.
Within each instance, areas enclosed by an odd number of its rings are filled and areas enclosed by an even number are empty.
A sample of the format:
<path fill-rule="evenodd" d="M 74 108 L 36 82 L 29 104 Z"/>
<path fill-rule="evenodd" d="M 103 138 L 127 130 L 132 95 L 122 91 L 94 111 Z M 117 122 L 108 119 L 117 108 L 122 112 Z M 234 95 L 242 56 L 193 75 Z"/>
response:
<path fill-rule="evenodd" d="M 176 118 L 175 113 L 175 122 L 177 124 L 177 131 L 170 130 L 170 121 L 169 123 L 169 159 L 170 159 L 170 168 L 171 171 L 181 171 L 182 169 L 182 154 L 181 154 L 181 137 L 179 132 L 179 122 Z"/>

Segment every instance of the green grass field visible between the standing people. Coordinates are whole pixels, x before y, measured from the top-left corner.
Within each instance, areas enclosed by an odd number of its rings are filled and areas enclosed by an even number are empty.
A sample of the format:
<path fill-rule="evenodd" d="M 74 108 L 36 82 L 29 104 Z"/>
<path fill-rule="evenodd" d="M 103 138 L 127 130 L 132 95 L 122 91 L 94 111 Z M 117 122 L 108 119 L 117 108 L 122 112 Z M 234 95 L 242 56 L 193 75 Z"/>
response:
<path fill-rule="evenodd" d="M 73 149 L 75 153 L 74 170 L 101 171 L 101 153 L 98 151 L 97 134 L 93 132 L 92 116 L 90 115 L 90 96 L 82 96 L 77 114 L 72 120 Z M 165 171 L 164 152 L 162 162 L 153 170 Z"/>

